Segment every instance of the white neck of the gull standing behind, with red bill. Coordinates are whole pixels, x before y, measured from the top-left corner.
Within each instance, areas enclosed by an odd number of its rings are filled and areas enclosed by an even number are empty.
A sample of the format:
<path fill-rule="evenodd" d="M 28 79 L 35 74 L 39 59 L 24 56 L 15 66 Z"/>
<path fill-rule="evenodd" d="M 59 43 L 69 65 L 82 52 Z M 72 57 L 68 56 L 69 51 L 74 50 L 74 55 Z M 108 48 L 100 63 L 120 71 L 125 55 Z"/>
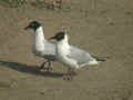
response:
<path fill-rule="evenodd" d="M 44 50 L 44 34 L 42 27 L 35 30 L 32 48 L 33 52 L 40 52 Z"/>

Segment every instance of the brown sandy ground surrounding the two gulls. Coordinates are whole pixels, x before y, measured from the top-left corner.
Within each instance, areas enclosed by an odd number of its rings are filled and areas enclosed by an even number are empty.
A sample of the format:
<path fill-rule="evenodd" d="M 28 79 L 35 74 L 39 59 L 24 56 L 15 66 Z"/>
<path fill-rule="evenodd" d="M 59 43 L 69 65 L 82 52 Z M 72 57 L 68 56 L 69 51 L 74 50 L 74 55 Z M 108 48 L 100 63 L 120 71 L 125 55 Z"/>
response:
<path fill-rule="evenodd" d="M 45 38 L 65 28 L 71 44 L 108 61 L 80 69 L 72 81 L 58 62 L 53 73 L 40 71 L 33 32 L 23 30 L 32 20 Z M 0 100 L 133 100 L 132 32 L 132 0 L 64 0 L 60 11 L 0 7 Z"/>

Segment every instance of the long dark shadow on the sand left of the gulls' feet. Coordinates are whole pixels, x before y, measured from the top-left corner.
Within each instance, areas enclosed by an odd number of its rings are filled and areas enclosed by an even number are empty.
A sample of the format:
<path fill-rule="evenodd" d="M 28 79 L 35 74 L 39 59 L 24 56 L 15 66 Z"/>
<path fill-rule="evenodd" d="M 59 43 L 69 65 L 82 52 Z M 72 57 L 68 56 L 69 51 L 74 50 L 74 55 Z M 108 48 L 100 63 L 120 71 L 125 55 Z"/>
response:
<path fill-rule="evenodd" d="M 58 72 L 44 72 L 44 71 L 41 71 L 39 67 L 30 66 L 21 62 L 11 62 L 11 61 L 0 60 L 0 67 L 7 67 L 20 72 L 31 73 L 35 76 L 51 77 L 51 78 L 60 78 L 63 76 L 63 73 L 58 73 Z"/>

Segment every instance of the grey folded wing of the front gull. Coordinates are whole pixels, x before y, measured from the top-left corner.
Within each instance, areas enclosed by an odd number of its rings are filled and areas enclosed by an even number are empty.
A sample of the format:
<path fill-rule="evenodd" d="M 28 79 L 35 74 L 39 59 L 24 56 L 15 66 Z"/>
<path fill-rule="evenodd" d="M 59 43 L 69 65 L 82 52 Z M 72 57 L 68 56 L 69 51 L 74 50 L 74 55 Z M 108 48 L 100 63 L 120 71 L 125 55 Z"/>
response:
<path fill-rule="evenodd" d="M 70 47 L 70 58 L 76 60 L 80 67 L 89 64 L 89 61 L 95 60 L 89 52 L 81 50 L 76 47 Z"/>

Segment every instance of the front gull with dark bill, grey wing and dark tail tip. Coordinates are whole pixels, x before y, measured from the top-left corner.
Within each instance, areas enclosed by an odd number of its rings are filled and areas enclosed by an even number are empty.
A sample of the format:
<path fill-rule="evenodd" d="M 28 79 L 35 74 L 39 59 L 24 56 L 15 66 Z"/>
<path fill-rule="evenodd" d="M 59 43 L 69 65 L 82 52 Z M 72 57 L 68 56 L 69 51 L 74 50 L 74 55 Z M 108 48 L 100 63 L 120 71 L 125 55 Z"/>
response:
<path fill-rule="evenodd" d="M 68 33 L 64 31 L 58 32 L 54 37 L 50 38 L 50 40 L 52 39 L 58 41 L 55 44 L 55 58 L 68 69 L 64 79 L 71 80 L 75 70 L 79 68 L 105 61 L 104 59 L 98 59 L 91 56 L 82 49 L 70 46 Z"/>

